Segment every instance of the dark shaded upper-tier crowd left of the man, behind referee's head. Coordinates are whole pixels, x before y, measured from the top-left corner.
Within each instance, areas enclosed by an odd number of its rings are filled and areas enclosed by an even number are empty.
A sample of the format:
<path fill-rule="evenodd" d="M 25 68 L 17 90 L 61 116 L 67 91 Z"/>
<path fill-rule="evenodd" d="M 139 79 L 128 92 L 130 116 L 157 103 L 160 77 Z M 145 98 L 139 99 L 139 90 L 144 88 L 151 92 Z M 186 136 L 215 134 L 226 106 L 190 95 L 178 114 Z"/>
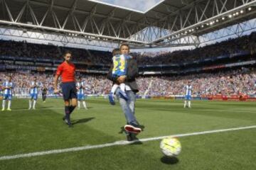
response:
<path fill-rule="evenodd" d="M 26 41 L 0 40 L 0 55 L 11 57 L 41 58 L 49 60 L 63 60 L 63 53 L 73 53 L 73 60 L 88 64 L 110 64 L 112 56 L 110 52 L 84 50 L 80 48 L 59 47 L 55 45 L 40 45 Z"/>

